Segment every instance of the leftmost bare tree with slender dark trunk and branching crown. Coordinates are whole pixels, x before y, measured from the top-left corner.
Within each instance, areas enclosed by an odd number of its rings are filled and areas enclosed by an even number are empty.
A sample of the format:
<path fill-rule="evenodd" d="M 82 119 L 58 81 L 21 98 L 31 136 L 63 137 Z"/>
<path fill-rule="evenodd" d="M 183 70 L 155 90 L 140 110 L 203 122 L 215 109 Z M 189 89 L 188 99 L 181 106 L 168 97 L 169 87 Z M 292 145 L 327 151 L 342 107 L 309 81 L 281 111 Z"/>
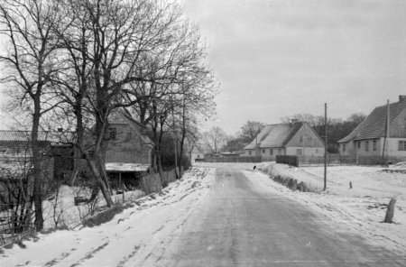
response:
<path fill-rule="evenodd" d="M 58 1 L 5 0 L 0 4 L 0 33 L 7 51 L 0 61 L 8 69 L 3 82 L 12 85 L 11 95 L 32 116 L 32 163 L 35 227 L 42 230 L 42 168 L 38 130 L 42 115 L 58 101 L 50 93 L 50 77 L 55 71 L 55 51 L 60 40 L 51 31 L 60 20 Z"/>

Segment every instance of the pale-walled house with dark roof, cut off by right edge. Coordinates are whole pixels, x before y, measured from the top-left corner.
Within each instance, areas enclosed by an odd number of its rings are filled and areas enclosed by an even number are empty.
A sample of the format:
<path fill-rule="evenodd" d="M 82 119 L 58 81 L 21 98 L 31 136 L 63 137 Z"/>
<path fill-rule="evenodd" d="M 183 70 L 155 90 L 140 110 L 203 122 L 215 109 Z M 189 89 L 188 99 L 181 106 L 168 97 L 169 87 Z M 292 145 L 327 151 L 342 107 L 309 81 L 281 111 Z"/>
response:
<path fill-rule="evenodd" d="M 406 96 L 388 106 L 377 106 L 351 134 L 338 141 L 341 155 L 382 156 L 386 125 L 389 135 L 385 144 L 385 155 L 406 157 Z"/>

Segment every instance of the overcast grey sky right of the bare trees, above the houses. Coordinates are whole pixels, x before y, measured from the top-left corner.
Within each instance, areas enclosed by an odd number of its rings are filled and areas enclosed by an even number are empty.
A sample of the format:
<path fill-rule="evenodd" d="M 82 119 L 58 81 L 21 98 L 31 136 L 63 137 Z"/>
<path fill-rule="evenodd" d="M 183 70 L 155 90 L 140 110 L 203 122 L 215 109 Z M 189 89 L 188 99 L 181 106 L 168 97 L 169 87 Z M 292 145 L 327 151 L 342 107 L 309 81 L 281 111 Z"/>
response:
<path fill-rule="evenodd" d="M 406 95 L 404 0 L 183 0 L 221 83 L 217 119 L 346 118 Z"/>

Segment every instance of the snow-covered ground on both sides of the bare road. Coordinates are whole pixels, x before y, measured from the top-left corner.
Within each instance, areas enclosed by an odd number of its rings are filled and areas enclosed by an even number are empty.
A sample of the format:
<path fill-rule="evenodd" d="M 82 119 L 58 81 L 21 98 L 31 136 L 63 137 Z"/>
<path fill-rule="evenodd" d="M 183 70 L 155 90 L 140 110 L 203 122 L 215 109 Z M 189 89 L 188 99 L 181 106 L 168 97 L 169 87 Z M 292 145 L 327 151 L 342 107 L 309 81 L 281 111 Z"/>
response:
<path fill-rule="evenodd" d="M 0 266 L 138 266 L 137 262 L 154 262 L 160 253 L 171 253 L 168 236 L 176 238 L 173 236 L 179 235 L 188 217 L 201 208 L 202 199 L 214 182 L 215 168 L 222 166 L 245 169 L 249 179 L 304 203 L 324 216 L 338 232 L 361 235 L 364 242 L 406 256 L 405 174 L 378 167 L 330 167 L 327 191 L 303 193 L 287 189 L 262 171 L 312 182 L 321 188 L 322 168 L 289 168 L 270 162 L 197 165 L 205 168 L 192 168 L 182 180 L 163 189 L 162 194 L 134 200 L 134 207 L 126 208 L 102 226 L 78 226 L 41 234 L 31 241 L 23 241 L 23 245 L 14 244 L 12 248 L 0 250 Z M 253 170 L 254 165 L 257 170 Z M 353 189 L 348 188 L 349 181 L 353 182 Z M 386 205 L 392 197 L 397 198 L 396 224 L 384 224 Z M 162 248 L 165 251 L 161 252 Z"/>

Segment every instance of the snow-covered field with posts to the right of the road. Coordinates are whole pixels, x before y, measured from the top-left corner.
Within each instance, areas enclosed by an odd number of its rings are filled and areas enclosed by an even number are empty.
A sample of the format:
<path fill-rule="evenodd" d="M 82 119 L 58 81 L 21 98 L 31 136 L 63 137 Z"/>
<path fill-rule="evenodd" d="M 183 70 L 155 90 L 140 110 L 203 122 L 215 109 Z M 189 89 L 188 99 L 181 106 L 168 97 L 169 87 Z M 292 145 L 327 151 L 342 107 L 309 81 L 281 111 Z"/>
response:
<path fill-rule="evenodd" d="M 253 171 L 254 165 L 257 170 Z M 245 169 L 263 187 L 272 187 L 306 204 L 337 224 L 337 230 L 362 235 L 365 242 L 382 244 L 399 253 L 406 253 L 406 174 L 391 170 L 406 170 L 405 164 L 389 168 L 362 166 L 328 167 L 328 189 L 323 191 L 324 168 L 295 168 L 274 162 L 263 163 L 202 163 L 207 167 Z M 258 170 L 260 169 L 260 170 Z M 269 179 L 269 175 L 283 175 L 309 183 L 317 192 L 292 191 Z M 349 189 L 349 182 L 353 189 Z M 391 198 L 396 198 L 394 224 L 383 219 Z"/>

